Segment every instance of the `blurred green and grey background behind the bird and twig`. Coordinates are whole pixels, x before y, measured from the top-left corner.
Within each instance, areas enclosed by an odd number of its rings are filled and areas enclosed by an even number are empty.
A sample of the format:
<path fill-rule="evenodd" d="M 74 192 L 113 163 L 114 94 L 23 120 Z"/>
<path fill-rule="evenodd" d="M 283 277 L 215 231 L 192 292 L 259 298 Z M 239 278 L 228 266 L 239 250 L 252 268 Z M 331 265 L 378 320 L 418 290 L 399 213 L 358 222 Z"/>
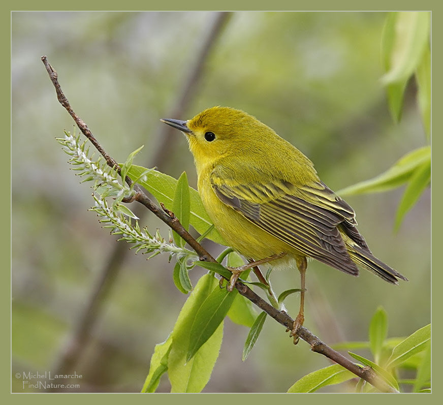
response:
<path fill-rule="evenodd" d="M 235 12 L 204 60 L 194 97 L 169 116 L 211 30 L 215 12 L 12 13 L 12 390 L 16 372 L 54 371 L 67 350 L 116 238 L 101 229 L 88 184 L 67 165 L 55 137 L 74 123 L 58 104 L 40 60 L 47 55 L 73 109 L 117 161 L 144 144 L 136 164 L 174 177 L 196 175 L 185 138 L 160 135 L 160 118 L 187 119 L 214 105 L 240 108 L 268 124 L 315 164 L 333 190 L 371 178 L 426 143 L 415 102 L 406 92 L 403 117 L 392 122 L 379 81 L 386 13 Z M 159 149 L 165 153 L 159 158 Z M 272 164 L 272 162 L 269 162 Z M 347 198 L 373 253 L 408 277 L 399 287 L 369 272 L 355 278 L 319 262 L 307 272 L 305 326 L 328 344 L 366 340 L 378 305 L 388 336 L 407 336 L 430 322 L 430 190 L 398 233 L 402 190 Z M 167 230 L 153 215 L 143 225 Z M 124 246 L 124 250 L 126 250 Z M 220 246 L 207 245 L 215 256 Z M 204 274 L 193 270 L 195 281 Z M 298 287 L 293 271 L 273 287 Z M 97 320 L 71 368 L 80 389 L 138 392 L 156 343 L 166 339 L 186 299 L 166 256 L 133 252 L 111 278 Z M 288 287 L 289 286 L 289 287 Z M 286 306 L 292 315 L 298 297 Z M 284 392 L 329 365 L 271 319 L 245 362 L 248 330 L 225 322 L 222 350 L 204 392 Z M 364 351 L 362 355 L 369 355 Z M 166 376 L 159 390 L 169 391 Z M 332 388 L 334 389 L 334 388 Z M 331 390 L 328 387 L 327 390 Z"/>

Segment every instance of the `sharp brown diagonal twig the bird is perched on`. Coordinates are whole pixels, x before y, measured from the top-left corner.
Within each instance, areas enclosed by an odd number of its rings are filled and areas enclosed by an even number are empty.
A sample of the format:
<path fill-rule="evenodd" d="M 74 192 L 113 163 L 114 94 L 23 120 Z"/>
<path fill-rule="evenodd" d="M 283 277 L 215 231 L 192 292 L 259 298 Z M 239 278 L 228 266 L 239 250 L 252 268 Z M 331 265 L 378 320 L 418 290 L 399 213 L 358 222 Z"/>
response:
<path fill-rule="evenodd" d="M 102 154 L 106 163 L 117 170 L 118 173 L 121 172 L 120 166 L 116 163 L 116 161 L 108 155 L 108 153 L 102 148 L 99 142 L 94 138 L 85 122 L 73 111 L 71 105 L 69 104 L 68 99 L 64 95 L 61 90 L 60 84 L 58 83 L 57 72 L 52 68 L 52 66 L 48 63 L 47 57 L 42 56 L 43 64 L 49 74 L 49 77 L 52 81 L 52 84 L 55 87 L 55 91 L 57 94 L 57 99 L 60 104 L 66 108 L 69 114 L 74 119 L 80 131 L 83 135 L 89 139 L 92 144 L 97 148 L 97 150 Z M 126 176 L 126 183 L 128 185 L 132 184 L 132 180 Z M 218 263 L 206 250 L 205 248 L 198 243 L 189 232 L 184 229 L 184 227 L 180 224 L 177 217 L 170 212 L 169 210 L 162 209 L 156 204 L 154 204 L 150 198 L 141 190 L 138 185 L 134 186 L 134 190 L 136 194 L 131 198 L 131 201 L 138 201 L 143 204 L 146 208 L 148 208 L 152 213 L 154 213 L 159 219 L 161 219 L 164 223 L 166 223 L 171 229 L 177 232 L 188 244 L 191 246 L 194 251 L 199 255 L 201 261 Z M 128 201 L 128 202 L 131 202 Z M 254 291 L 252 291 L 249 287 L 245 286 L 243 283 L 237 281 L 235 284 L 235 288 L 238 292 L 243 295 L 245 298 L 250 300 L 252 303 L 256 304 L 260 309 L 265 311 L 271 318 L 274 318 L 278 323 L 286 327 L 288 330 L 292 329 L 294 320 L 284 311 L 279 311 L 274 308 L 271 304 L 262 299 L 259 295 L 257 295 Z M 317 336 L 312 334 L 305 327 L 300 327 L 298 332 L 298 336 L 306 341 L 313 352 L 317 352 L 323 354 L 334 362 L 342 365 L 344 368 L 353 372 L 356 376 L 366 380 L 374 387 L 378 388 L 382 392 L 397 392 L 394 388 L 385 383 L 382 379 L 380 379 L 374 370 L 370 367 L 360 367 L 357 364 L 353 363 L 351 360 L 344 357 L 342 354 L 333 350 L 331 347 L 326 345 L 323 341 L 321 341 Z"/>

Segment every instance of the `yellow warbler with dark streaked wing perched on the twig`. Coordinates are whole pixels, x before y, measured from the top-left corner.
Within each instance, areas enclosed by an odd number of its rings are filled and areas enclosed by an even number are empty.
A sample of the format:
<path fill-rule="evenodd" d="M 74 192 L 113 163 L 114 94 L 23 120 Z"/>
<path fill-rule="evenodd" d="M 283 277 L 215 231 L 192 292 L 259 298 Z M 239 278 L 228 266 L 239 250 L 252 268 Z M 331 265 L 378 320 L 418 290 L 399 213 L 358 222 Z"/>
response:
<path fill-rule="evenodd" d="M 372 255 L 354 210 L 320 180 L 312 162 L 257 118 L 212 107 L 187 121 L 162 121 L 186 135 L 208 215 L 250 262 L 234 269 L 231 288 L 240 270 L 295 260 L 302 292 L 292 335 L 304 321 L 306 258 L 355 276 L 358 264 L 389 283 L 406 280 Z"/>

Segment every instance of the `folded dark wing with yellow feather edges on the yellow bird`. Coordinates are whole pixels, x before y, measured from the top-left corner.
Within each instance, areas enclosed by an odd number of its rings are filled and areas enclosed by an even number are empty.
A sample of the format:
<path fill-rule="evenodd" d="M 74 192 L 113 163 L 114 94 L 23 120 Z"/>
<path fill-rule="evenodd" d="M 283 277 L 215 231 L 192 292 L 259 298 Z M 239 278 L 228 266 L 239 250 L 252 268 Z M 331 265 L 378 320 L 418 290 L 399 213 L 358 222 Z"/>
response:
<path fill-rule="evenodd" d="M 367 249 L 355 228 L 354 210 L 322 182 L 301 186 L 268 178 L 263 183 L 238 184 L 227 181 L 216 168 L 211 173 L 211 184 L 222 202 L 301 254 L 358 274 L 340 233 Z"/>

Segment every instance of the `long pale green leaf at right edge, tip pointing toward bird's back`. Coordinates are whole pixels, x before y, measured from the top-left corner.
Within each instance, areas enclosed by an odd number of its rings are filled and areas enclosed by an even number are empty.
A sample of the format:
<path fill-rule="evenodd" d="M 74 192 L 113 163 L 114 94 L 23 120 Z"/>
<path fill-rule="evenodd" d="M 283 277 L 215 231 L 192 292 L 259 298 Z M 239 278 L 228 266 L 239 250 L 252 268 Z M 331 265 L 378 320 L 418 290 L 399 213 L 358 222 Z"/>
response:
<path fill-rule="evenodd" d="M 431 147 L 424 146 L 405 154 L 394 166 L 386 172 L 369 180 L 350 185 L 337 192 L 339 195 L 355 195 L 363 193 L 378 193 L 397 188 L 413 175 L 414 170 L 430 161 Z"/>

